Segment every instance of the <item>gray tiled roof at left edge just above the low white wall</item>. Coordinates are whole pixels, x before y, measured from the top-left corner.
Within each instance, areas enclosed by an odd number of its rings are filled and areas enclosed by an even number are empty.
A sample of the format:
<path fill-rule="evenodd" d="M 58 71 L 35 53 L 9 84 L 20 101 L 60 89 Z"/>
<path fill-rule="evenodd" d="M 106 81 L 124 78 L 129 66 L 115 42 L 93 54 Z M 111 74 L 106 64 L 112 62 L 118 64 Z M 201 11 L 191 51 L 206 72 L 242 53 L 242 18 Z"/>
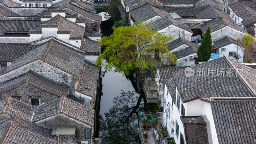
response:
<path fill-rule="evenodd" d="M 4 32 L 28 32 L 42 23 L 40 20 L 0 20 L 0 28 Z"/>

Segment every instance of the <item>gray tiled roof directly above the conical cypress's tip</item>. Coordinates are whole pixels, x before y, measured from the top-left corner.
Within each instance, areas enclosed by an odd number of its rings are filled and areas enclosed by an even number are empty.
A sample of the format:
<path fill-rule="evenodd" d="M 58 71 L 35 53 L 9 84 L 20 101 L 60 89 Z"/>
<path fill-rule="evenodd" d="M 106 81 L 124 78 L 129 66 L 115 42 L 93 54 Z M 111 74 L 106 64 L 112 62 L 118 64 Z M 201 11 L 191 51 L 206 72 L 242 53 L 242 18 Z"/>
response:
<path fill-rule="evenodd" d="M 226 12 L 217 10 L 211 6 L 207 6 L 206 8 L 204 8 L 204 10 L 202 10 L 196 15 L 196 18 L 213 19 L 203 24 L 201 28 L 203 33 L 207 30 L 208 26 L 210 26 L 211 32 L 214 32 L 226 26 L 229 26 L 241 32 L 245 32 L 244 29 L 238 26 L 236 22 L 232 20 Z"/>

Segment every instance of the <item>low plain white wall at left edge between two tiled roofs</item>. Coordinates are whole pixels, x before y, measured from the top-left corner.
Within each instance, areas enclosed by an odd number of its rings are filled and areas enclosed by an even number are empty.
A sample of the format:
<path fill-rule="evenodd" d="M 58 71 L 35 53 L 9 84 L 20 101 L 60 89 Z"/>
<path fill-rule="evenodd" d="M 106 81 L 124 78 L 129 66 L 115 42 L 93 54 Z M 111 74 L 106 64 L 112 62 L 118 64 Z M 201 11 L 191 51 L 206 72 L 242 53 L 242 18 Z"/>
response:
<path fill-rule="evenodd" d="M 0 43 L 28 44 L 29 36 L 1 36 Z"/>

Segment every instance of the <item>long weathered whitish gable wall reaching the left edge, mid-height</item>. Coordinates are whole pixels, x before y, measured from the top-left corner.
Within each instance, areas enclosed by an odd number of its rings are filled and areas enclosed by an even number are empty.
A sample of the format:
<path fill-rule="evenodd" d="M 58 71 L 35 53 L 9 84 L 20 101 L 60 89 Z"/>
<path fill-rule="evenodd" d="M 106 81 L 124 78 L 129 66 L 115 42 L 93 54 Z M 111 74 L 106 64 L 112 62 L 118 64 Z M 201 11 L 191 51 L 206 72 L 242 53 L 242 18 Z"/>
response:
<path fill-rule="evenodd" d="M 0 75 L 0 82 L 4 82 L 17 76 L 20 76 L 21 74 L 24 74 L 29 70 L 32 70 L 42 76 L 50 78 L 59 83 L 67 84 L 69 85 L 69 87 L 72 87 L 72 76 L 70 74 L 58 68 L 55 68 L 41 60 L 36 60 L 20 68 L 12 70 L 4 75 Z"/>

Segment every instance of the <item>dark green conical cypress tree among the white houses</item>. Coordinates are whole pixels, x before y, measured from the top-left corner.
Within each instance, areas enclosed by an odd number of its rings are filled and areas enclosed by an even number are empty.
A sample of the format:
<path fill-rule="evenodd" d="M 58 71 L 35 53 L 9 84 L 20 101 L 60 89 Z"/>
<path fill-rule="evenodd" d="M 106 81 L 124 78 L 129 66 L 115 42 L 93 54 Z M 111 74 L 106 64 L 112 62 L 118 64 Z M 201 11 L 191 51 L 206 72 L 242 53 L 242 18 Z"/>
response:
<path fill-rule="evenodd" d="M 202 43 L 197 49 L 197 56 L 200 62 L 206 62 L 210 60 L 212 53 L 212 36 L 210 26 L 206 30 Z"/>

